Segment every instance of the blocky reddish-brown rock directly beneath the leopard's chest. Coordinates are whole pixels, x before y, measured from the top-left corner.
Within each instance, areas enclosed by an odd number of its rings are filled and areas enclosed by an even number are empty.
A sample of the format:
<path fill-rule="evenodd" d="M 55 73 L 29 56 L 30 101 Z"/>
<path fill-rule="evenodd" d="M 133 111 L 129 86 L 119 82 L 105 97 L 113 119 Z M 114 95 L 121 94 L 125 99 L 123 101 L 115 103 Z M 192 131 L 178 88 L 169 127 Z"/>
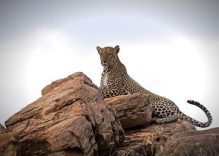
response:
<path fill-rule="evenodd" d="M 122 95 L 107 98 L 105 102 L 116 110 L 124 129 L 148 125 L 151 122 L 152 107 L 147 95 L 140 93 Z"/>

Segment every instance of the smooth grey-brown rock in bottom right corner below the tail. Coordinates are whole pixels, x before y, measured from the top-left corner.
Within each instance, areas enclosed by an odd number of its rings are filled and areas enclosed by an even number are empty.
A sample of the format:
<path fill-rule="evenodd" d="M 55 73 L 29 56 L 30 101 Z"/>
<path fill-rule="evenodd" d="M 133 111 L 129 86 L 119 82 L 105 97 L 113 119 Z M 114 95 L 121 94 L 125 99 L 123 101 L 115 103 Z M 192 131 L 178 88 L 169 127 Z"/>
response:
<path fill-rule="evenodd" d="M 156 156 L 218 156 L 219 128 L 186 131 L 172 135 Z"/>

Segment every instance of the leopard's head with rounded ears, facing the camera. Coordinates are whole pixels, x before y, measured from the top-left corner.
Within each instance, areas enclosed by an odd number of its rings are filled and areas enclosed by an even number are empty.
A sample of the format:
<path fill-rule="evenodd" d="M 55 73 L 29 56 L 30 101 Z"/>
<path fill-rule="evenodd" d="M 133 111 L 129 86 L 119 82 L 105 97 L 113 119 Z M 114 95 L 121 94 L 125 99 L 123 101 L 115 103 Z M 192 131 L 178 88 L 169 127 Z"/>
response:
<path fill-rule="evenodd" d="M 118 45 L 115 47 L 104 47 L 104 48 L 97 46 L 97 51 L 100 55 L 101 64 L 106 69 L 113 68 L 119 60 L 118 58 L 119 46 Z"/>

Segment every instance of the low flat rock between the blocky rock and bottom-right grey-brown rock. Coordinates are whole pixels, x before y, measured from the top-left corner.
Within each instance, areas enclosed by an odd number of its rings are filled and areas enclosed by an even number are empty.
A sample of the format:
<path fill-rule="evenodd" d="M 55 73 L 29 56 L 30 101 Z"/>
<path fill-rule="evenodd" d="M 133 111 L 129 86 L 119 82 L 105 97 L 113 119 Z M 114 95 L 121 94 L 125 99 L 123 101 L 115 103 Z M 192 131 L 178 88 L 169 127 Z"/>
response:
<path fill-rule="evenodd" d="M 163 144 L 170 136 L 178 132 L 187 131 L 195 131 L 195 127 L 186 121 L 161 125 L 154 124 L 127 130 L 125 131 L 125 142 L 111 155 L 154 156 L 157 150 L 163 148 Z"/>

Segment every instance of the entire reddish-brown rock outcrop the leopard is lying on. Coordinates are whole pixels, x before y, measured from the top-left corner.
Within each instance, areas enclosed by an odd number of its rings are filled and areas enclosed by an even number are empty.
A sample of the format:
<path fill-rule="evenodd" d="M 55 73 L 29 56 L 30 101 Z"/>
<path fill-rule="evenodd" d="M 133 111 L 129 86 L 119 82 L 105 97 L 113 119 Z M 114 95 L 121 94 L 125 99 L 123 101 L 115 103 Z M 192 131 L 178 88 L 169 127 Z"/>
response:
<path fill-rule="evenodd" d="M 57 80 L 0 125 L 0 156 L 216 156 L 219 128 L 151 123 L 147 95 L 104 99 L 83 73 Z"/>

